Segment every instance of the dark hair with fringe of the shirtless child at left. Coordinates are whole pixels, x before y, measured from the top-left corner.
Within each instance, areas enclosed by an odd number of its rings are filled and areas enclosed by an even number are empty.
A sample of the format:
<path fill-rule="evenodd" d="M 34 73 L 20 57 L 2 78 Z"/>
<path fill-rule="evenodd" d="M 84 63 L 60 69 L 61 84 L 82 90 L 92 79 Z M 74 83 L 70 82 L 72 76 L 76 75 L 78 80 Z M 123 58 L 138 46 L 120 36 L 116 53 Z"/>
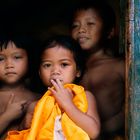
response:
<path fill-rule="evenodd" d="M 28 71 L 25 77 L 31 78 L 34 74 L 35 57 L 37 53 L 37 40 L 28 35 L 11 34 L 0 36 L 0 51 L 7 48 L 9 42 L 13 42 L 17 48 L 22 48 L 26 51 L 28 56 Z"/>

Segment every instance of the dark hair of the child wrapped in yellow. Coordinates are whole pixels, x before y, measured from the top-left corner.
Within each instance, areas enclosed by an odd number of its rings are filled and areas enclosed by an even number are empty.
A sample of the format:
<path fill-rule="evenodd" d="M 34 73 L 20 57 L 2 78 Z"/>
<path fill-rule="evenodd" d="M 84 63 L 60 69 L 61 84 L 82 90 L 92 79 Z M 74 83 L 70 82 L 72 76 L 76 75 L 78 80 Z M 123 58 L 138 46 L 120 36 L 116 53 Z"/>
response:
<path fill-rule="evenodd" d="M 80 45 L 70 36 L 56 35 L 48 38 L 41 47 L 40 58 L 44 50 L 56 47 L 56 45 L 59 45 L 60 47 L 65 48 L 67 50 L 70 50 L 73 53 L 77 69 L 81 71 L 81 75 L 82 75 L 84 70 L 84 65 L 85 65 L 83 51 Z"/>

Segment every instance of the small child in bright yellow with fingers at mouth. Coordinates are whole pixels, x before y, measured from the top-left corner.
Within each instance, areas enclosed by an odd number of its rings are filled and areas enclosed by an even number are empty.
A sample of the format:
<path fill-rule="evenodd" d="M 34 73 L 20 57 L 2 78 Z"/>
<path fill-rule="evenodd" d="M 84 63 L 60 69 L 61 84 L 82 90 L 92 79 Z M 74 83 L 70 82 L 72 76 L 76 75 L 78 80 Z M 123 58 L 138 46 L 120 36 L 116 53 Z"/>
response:
<path fill-rule="evenodd" d="M 40 79 L 48 91 L 38 101 L 31 127 L 6 140 L 89 140 L 100 133 L 93 94 L 74 84 L 82 75 L 80 46 L 68 36 L 49 39 L 41 50 Z"/>

